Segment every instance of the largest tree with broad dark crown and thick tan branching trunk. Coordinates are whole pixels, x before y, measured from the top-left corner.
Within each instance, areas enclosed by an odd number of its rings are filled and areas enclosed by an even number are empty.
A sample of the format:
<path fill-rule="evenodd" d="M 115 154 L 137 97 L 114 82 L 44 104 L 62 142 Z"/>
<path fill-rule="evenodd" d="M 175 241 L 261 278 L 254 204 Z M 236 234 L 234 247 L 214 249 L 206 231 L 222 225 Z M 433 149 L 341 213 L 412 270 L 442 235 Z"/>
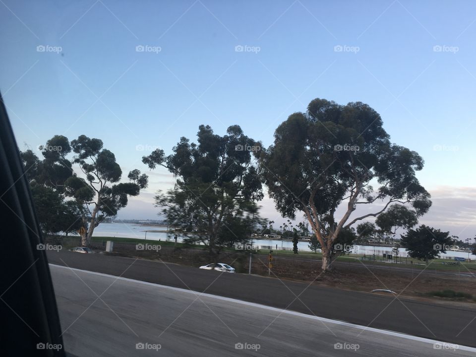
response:
<path fill-rule="evenodd" d="M 264 181 L 284 217 L 304 212 L 321 244 L 323 270 L 339 255 L 332 251 L 343 229 L 377 217 L 392 203 L 410 204 L 417 216 L 431 205 L 415 176 L 423 160 L 391 144 L 382 119 L 366 104 L 315 99 L 305 113 L 279 125 L 274 138 L 274 145 L 256 153 Z M 345 212 L 335 217 L 340 204 Z M 358 205 L 375 208 L 351 218 Z"/>

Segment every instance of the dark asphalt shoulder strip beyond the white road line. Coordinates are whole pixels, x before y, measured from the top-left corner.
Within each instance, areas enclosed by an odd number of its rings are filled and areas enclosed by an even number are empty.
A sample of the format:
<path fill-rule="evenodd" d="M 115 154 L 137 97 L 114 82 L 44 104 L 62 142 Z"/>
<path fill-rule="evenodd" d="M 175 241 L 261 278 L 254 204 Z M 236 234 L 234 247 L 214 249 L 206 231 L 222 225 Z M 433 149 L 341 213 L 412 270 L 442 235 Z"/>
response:
<path fill-rule="evenodd" d="M 395 298 L 103 254 L 49 251 L 48 258 L 50 263 L 72 268 L 476 347 L 476 308 L 468 304 L 459 306 Z M 132 306 L 133 301 L 130 300 L 129 305 Z"/>

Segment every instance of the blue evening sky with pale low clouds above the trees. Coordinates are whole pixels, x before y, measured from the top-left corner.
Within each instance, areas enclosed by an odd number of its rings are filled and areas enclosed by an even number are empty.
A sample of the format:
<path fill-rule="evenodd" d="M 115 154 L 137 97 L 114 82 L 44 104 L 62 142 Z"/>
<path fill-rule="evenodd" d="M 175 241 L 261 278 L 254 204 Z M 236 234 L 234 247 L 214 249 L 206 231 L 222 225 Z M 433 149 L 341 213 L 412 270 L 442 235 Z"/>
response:
<path fill-rule="evenodd" d="M 103 140 L 149 187 L 118 218 L 156 219 L 166 154 L 209 124 L 264 146 L 314 98 L 364 102 L 425 161 L 420 219 L 476 234 L 475 1 L 0 1 L 0 91 L 20 150 L 53 135 Z M 38 152 L 39 154 L 39 152 Z M 262 216 L 285 219 L 268 197 Z M 342 214 L 342 209 L 337 212 Z M 275 224 L 276 226 L 276 224 Z"/>

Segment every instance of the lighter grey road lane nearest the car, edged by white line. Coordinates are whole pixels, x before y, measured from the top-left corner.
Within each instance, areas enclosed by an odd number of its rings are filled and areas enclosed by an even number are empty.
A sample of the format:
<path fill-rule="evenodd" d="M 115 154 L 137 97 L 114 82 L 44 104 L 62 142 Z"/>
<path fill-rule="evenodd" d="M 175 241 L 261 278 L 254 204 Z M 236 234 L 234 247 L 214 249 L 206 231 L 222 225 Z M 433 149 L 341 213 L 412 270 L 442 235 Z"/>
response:
<path fill-rule="evenodd" d="M 476 356 L 474 348 L 189 290 L 51 271 L 73 356 Z"/>

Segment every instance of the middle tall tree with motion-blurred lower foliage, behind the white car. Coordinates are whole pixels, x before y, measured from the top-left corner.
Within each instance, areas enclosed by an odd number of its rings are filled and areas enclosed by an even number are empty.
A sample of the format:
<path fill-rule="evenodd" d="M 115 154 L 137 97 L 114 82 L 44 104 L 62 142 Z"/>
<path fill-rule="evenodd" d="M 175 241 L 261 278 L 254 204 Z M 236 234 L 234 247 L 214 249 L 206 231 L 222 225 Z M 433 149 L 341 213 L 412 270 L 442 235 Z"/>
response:
<path fill-rule="evenodd" d="M 221 250 L 220 237 L 227 236 L 228 243 L 247 239 L 246 230 L 235 230 L 231 223 L 249 222 L 250 217 L 252 222 L 259 222 L 255 202 L 263 193 L 250 151 L 259 147 L 238 125 L 230 126 L 224 136 L 200 125 L 197 139 L 195 144 L 181 137 L 173 154 L 166 157 L 157 149 L 142 161 L 150 169 L 163 166 L 175 175 L 174 188 L 160 191 L 156 206 L 186 241 L 202 242 L 216 258 Z"/>

